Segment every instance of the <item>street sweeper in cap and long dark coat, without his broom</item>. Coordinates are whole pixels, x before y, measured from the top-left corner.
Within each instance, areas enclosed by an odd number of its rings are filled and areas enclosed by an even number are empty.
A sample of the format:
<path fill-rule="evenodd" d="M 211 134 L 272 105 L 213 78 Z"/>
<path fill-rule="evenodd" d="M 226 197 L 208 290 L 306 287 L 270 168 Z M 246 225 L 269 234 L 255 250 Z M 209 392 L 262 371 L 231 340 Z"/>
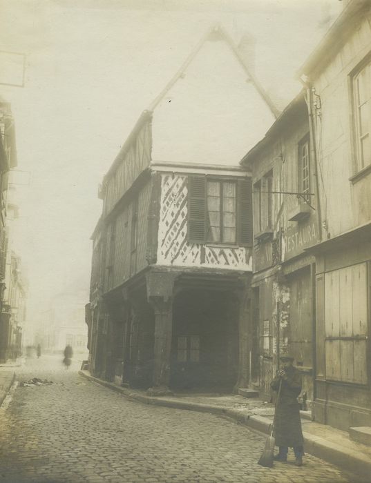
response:
<path fill-rule="evenodd" d="M 277 393 L 274 416 L 274 440 L 279 447 L 276 461 L 287 461 L 289 448 L 294 449 L 295 464 L 303 464 L 303 433 L 301 431 L 300 407 L 297 401 L 301 393 L 301 373 L 294 367 L 294 357 L 280 355 L 281 368 L 277 371 L 271 387 Z M 279 391 L 279 394 L 278 394 Z"/>

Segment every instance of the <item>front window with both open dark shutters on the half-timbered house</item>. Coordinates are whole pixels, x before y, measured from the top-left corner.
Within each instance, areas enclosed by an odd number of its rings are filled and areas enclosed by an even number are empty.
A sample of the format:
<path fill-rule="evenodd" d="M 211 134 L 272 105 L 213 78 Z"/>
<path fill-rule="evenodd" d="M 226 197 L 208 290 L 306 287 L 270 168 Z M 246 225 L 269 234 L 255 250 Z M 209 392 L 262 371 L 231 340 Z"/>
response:
<path fill-rule="evenodd" d="M 188 180 L 188 238 L 193 243 L 251 245 L 251 180 Z"/>

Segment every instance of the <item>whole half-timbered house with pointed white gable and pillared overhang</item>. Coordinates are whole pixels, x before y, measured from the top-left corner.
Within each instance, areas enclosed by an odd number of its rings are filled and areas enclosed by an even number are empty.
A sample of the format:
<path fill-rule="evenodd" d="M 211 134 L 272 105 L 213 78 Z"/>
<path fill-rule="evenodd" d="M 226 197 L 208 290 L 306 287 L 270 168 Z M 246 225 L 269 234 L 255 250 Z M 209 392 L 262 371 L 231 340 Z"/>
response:
<path fill-rule="evenodd" d="M 95 375 L 153 394 L 248 385 L 251 176 L 239 160 L 275 115 L 220 27 L 142 113 L 100 190 L 86 307 Z"/>

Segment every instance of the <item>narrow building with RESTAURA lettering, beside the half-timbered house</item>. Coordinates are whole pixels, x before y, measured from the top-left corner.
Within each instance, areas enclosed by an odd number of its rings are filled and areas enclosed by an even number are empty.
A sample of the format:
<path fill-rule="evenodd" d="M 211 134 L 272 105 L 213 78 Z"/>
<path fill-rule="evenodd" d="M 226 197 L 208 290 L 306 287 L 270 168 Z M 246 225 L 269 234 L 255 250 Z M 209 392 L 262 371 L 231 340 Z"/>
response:
<path fill-rule="evenodd" d="M 254 207 L 250 381 L 269 398 L 279 355 L 289 351 L 307 409 L 314 400 L 315 272 L 305 248 L 318 242 L 312 158 L 303 90 L 241 161 L 251 170 Z"/>

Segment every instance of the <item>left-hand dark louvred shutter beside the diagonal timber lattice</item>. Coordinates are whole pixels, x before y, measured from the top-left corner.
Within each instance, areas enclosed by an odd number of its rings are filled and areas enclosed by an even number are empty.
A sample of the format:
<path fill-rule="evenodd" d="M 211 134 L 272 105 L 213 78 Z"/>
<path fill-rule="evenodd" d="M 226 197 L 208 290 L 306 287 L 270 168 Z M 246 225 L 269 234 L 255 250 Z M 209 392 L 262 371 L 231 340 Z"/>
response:
<path fill-rule="evenodd" d="M 206 239 L 206 179 L 204 176 L 188 178 L 188 239 L 204 243 Z"/>

